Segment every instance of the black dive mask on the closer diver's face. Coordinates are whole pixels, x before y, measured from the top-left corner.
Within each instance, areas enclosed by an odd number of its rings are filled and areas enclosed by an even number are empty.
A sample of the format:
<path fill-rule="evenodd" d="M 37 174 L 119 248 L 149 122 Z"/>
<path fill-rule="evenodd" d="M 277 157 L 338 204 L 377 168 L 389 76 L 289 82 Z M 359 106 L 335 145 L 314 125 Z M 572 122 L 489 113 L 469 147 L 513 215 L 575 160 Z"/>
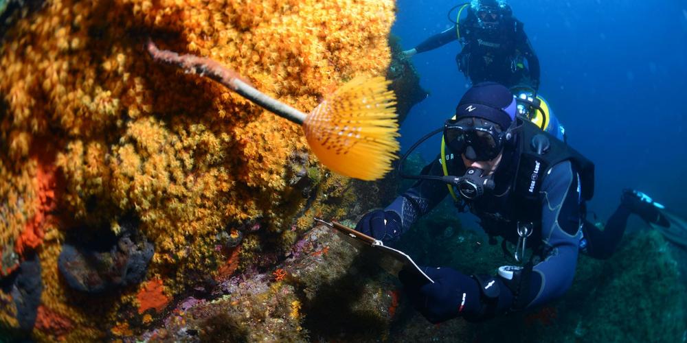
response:
<path fill-rule="evenodd" d="M 493 126 L 469 126 L 452 119 L 444 124 L 444 141 L 453 152 L 464 154 L 470 161 L 491 161 L 503 147 L 502 134 Z"/>

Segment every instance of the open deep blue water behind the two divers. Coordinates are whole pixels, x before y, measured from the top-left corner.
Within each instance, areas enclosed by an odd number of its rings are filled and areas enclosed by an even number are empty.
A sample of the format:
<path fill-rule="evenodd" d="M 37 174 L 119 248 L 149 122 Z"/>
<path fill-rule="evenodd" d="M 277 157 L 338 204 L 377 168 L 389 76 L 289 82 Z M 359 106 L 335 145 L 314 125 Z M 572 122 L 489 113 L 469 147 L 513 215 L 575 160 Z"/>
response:
<path fill-rule="evenodd" d="M 392 33 L 411 49 L 451 27 L 447 12 L 459 3 L 398 0 Z M 590 209 L 608 217 L 620 191 L 631 187 L 687 217 L 687 1 L 509 4 L 539 56 L 539 94 L 570 145 L 596 163 Z M 413 57 L 430 96 L 401 127 L 404 150 L 442 126 L 469 87 L 455 65 L 459 51 L 456 41 Z M 420 150 L 427 159 L 436 156 L 439 138 Z"/>

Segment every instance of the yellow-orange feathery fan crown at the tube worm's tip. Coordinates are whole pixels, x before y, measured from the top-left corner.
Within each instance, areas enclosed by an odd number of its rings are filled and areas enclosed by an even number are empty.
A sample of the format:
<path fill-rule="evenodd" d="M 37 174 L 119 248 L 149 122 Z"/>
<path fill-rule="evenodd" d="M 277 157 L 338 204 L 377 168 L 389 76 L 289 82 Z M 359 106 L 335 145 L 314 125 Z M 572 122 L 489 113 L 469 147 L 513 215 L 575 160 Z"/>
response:
<path fill-rule="evenodd" d="M 354 78 L 308 115 L 303 129 L 322 164 L 361 180 L 379 179 L 392 169 L 400 147 L 389 83 L 381 77 Z"/>

